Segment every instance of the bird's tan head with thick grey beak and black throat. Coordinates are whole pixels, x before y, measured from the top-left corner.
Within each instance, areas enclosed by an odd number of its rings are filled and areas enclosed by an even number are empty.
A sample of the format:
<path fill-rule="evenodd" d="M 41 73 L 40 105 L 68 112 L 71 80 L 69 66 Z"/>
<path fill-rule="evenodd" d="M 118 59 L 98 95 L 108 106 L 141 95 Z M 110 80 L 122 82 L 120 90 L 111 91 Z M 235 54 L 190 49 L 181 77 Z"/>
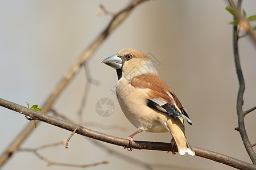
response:
<path fill-rule="evenodd" d="M 131 79 L 141 74 L 158 74 L 151 59 L 133 48 L 126 48 L 102 61 L 117 70 L 118 79 Z"/>

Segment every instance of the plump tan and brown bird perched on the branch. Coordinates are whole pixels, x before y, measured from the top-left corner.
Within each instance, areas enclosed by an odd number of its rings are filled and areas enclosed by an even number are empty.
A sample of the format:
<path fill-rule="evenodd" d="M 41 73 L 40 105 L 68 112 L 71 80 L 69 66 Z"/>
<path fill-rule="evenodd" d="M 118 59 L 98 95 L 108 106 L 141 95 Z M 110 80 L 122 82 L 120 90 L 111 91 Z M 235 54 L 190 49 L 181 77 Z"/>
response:
<path fill-rule="evenodd" d="M 117 71 L 115 94 L 122 112 L 138 129 L 127 137 L 129 144 L 142 131 L 169 132 L 171 150 L 176 146 L 180 155 L 187 152 L 194 156 L 184 128 L 184 121 L 190 125 L 192 121 L 175 93 L 160 78 L 150 57 L 137 49 L 126 48 L 102 62 Z"/>

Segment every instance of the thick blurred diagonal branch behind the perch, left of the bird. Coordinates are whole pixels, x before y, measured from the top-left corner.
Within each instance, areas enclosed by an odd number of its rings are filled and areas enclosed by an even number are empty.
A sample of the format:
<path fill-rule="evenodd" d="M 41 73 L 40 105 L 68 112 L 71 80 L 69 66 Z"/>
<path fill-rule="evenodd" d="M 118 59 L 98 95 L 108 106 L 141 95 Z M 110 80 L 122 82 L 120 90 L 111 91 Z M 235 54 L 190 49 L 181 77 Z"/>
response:
<path fill-rule="evenodd" d="M 67 87 L 67 84 L 72 80 L 74 75 L 80 70 L 80 67 L 92 56 L 92 54 L 95 52 L 95 50 L 98 48 L 98 46 L 101 45 L 101 43 L 110 35 L 110 33 L 113 32 L 115 28 L 118 27 L 126 18 L 129 16 L 130 12 L 139 4 L 142 2 L 145 2 L 147 0 L 134 0 L 127 5 L 126 8 L 119 11 L 115 16 L 113 16 L 113 19 L 110 21 L 109 25 L 105 28 L 105 30 L 100 33 L 100 35 L 92 42 L 92 44 L 89 45 L 88 48 L 84 50 L 84 52 L 81 53 L 80 57 L 77 58 L 77 60 L 73 63 L 73 66 L 71 69 L 64 74 L 63 78 L 60 80 L 59 84 L 57 84 L 57 87 L 55 90 L 53 90 L 52 94 L 48 97 L 46 102 L 43 105 L 42 113 L 46 114 L 50 111 L 52 108 L 53 103 L 55 103 L 57 97 L 59 97 L 60 93 L 64 90 L 65 87 Z M 36 122 L 37 125 L 39 125 L 39 122 Z M 14 139 L 14 141 L 11 143 L 11 145 L 3 152 L 3 154 L 0 157 L 0 167 L 8 160 L 13 153 L 18 150 L 19 146 L 24 142 L 24 140 L 28 137 L 28 135 L 33 131 L 34 123 L 31 122 L 26 126 L 26 128 L 23 129 L 23 131 Z"/>

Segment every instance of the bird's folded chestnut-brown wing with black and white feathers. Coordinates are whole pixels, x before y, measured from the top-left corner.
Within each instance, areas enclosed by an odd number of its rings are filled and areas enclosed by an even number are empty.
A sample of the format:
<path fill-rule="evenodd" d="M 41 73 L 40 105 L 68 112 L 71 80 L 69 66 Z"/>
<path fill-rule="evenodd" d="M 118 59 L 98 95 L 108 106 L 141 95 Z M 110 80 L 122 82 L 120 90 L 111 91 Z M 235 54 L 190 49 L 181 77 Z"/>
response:
<path fill-rule="evenodd" d="M 192 125 L 185 108 L 171 88 L 157 74 L 142 74 L 130 79 L 131 86 L 146 92 L 148 107 L 181 117 Z"/>

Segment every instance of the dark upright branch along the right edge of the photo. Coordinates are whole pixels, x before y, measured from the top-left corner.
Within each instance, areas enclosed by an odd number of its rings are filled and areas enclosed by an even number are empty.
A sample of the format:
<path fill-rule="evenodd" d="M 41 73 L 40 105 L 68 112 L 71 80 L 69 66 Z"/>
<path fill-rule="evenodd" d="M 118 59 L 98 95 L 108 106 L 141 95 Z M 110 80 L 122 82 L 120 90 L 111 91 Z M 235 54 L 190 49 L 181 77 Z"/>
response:
<path fill-rule="evenodd" d="M 241 0 L 238 0 L 237 6 L 236 6 L 236 5 L 234 5 L 234 2 L 232 0 L 229 0 L 230 6 L 232 6 L 234 8 L 237 18 L 240 19 L 239 22 L 241 20 L 244 20 L 243 17 L 240 16 L 241 15 L 241 12 L 240 12 L 241 2 L 242 2 Z M 234 18 L 234 20 L 236 20 L 236 18 Z M 250 28 L 250 30 L 251 30 L 251 28 Z M 237 77 L 238 77 L 238 81 L 239 81 L 239 89 L 238 89 L 238 94 L 237 94 L 238 128 L 236 128 L 236 130 L 238 130 L 240 132 L 240 135 L 241 135 L 241 138 L 243 141 L 243 145 L 245 146 L 246 151 L 249 154 L 251 161 L 253 162 L 253 164 L 256 164 L 256 154 L 253 150 L 253 147 L 249 141 L 248 135 L 245 130 L 245 115 L 247 113 L 243 112 L 243 109 L 242 109 L 243 93 L 245 92 L 245 80 L 243 79 L 243 73 L 242 73 L 241 64 L 240 64 L 240 57 L 239 57 L 239 53 L 238 53 L 238 39 L 239 39 L 238 36 L 239 35 L 238 35 L 237 25 L 234 25 L 233 26 L 234 61 L 236 64 Z M 253 109 L 250 109 L 247 112 L 249 113 L 249 112 L 253 111 Z"/>

